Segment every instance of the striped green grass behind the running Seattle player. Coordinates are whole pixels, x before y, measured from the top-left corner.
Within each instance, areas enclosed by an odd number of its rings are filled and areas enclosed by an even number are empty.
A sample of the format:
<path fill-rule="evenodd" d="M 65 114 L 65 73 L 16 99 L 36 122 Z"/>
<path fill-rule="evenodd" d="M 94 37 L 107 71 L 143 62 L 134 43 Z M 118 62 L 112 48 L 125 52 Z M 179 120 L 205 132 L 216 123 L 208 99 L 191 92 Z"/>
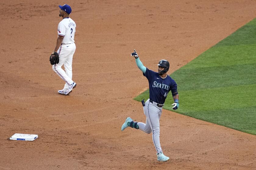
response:
<path fill-rule="evenodd" d="M 256 19 L 170 76 L 180 96 L 175 112 L 256 134 Z M 135 100 L 148 97 L 146 90 Z M 169 95 L 164 108 L 172 103 Z"/>

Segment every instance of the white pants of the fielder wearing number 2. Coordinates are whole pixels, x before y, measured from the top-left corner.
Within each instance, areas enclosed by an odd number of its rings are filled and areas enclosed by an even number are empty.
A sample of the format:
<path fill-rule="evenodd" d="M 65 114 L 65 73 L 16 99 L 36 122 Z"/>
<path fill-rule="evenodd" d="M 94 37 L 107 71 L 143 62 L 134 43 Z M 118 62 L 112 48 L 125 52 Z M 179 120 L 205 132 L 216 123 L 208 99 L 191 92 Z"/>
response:
<path fill-rule="evenodd" d="M 75 43 L 71 44 L 61 44 L 58 49 L 59 54 L 59 63 L 52 66 L 52 70 L 59 75 L 62 80 L 66 83 L 64 85 L 64 90 L 68 89 L 68 87 L 73 83 L 72 80 L 72 61 L 73 55 L 76 51 Z M 64 64 L 65 71 L 61 68 Z"/>

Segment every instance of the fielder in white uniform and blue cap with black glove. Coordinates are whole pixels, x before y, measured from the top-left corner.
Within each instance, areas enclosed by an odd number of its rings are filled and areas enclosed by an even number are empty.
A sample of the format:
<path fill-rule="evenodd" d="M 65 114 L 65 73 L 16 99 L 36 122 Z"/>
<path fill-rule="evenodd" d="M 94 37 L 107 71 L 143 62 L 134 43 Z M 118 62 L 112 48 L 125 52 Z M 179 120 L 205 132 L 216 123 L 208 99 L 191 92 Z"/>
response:
<path fill-rule="evenodd" d="M 69 5 L 59 5 L 59 8 L 59 16 L 62 17 L 62 21 L 58 25 L 57 43 L 54 52 L 50 56 L 50 61 L 54 57 L 59 57 L 57 62 L 51 62 L 53 71 L 65 81 L 64 88 L 58 90 L 58 93 L 69 95 L 76 87 L 76 83 L 72 80 L 72 60 L 76 50 L 74 41 L 76 23 L 69 18 L 72 11 Z M 65 71 L 61 68 L 63 64 Z"/>

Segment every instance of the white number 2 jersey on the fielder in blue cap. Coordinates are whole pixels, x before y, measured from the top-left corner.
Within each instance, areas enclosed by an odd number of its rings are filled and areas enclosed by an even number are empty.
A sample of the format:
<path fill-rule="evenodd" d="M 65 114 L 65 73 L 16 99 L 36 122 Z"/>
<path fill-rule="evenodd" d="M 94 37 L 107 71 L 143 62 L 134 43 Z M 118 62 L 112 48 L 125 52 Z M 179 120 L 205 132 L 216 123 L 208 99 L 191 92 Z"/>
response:
<path fill-rule="evenodd" d="M 63 36 L 62 44 L 75 42 L 76 23 L 71 18 L 64 18 L 58 25 L 58 36 Z"/>

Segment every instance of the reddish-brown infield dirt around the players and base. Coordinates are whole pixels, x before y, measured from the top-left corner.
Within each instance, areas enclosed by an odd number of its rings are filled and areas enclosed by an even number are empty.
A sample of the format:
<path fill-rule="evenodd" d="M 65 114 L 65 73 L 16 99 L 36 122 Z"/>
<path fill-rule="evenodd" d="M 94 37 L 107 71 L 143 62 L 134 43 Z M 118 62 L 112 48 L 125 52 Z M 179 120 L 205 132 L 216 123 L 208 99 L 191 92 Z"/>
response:
<path fill-rule="evenodd" d="M 57 93 L 64 82 L 49 63 L 63 3 L 77 25 L 70 96 Z M 148 88 L 133 49 L 151 70 L 169 60 L 170 74 L 254 19 L 255 1 L 0 4 L 0 169 L 256 169 L 256 136 L 168 110 L 160 121 L 167 162 L 157 161 L 151 134 L 120 131 L 128 116 L 146 119 L 133 100 Z M 15 133 L 39 138 L 10 141 Z"/>

